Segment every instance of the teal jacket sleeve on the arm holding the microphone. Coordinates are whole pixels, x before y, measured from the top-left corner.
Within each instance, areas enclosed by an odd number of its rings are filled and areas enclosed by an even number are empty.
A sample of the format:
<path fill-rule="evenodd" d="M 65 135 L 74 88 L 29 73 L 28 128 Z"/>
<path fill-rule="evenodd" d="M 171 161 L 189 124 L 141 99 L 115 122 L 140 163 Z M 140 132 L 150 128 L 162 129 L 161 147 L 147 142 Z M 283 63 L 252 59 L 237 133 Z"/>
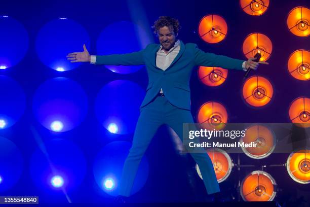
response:
<path fill-rule="evenodd" d="M 204 52 L 201 49 L 199 49 L 196 44 L 194 44 L 194 47 L 195 47 L 194 49 L 195 65 L 243 70 L 242 63 L 244 62 L 244 60 Z"/>

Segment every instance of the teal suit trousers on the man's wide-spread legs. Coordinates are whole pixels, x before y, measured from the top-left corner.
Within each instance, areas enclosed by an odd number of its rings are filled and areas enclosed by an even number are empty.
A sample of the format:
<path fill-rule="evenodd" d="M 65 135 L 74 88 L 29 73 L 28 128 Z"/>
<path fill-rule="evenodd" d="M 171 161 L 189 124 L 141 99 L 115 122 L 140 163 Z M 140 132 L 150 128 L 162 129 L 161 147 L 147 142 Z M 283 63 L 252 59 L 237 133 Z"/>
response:
<path fill-rule="evenodd" d="M 173 106 L 166 97 L 157 96 L 148 105 L 140 109 L 140 116 L 134 132 L 132 147 L 123 167 L 120 195 L 130 196 L 141 158 L 157 129 L 161 125 L 167 124 L 182 140 L 183 123 L 193 123 L 190 111 Z M 195 142 L 196 139 L 192 141 Z M 205 150 L 203 151 L 202 153 L 191 153 L 190 155 L 201 170 L 207 193 L 216 193 L 220 189 L 213 164 Z"/>

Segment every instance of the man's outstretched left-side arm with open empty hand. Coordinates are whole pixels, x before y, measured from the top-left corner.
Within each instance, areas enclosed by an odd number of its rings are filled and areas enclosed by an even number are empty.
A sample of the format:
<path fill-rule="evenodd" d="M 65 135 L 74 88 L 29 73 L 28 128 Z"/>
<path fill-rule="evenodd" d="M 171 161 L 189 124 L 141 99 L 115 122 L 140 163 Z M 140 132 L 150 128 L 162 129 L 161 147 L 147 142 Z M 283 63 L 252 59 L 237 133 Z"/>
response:
<path fill-rule="evenodd" d="M 70 62 L 91 62 L 105 65 L 141 65 L 144 64 L 143 50 L 127 54 L 115 55 L 90 55 L 83 45 L 83 52 L 72 52 L 67 55 Z"/>

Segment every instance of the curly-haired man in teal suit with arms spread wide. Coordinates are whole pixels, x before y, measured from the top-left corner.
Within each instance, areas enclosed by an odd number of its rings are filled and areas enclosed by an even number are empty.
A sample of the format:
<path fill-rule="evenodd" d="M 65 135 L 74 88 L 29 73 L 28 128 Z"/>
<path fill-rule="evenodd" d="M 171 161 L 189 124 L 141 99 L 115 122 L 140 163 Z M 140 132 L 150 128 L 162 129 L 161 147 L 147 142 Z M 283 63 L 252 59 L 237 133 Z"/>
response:
<path fill-rule="evenodd" d="M 140 106 L 140 116 L 134 132 L 133 143 L 125 161 L 118 198 L 124 201 L 130 195 L 141 158 L 152 137 L 162 124 L 169 125 L 182 139 L 183 123 L 193 123 L 190 113 L 189 79 L 197 65 L 217 66 L 226 69 L 256 70 L 255 58 L 247 61 L 213 53 L 206 53 L 196 44 L 177 40 L 180 25 L 177 19 L 162 16 L 153 25 L 160 44 L 149 44 L 145 49 L 127 53 L 103 56 L 89 55 L 85 45 L 83 52 L 67 55 L 71 62 L 91 62 L 104 65 L 146 66 L 148 86 Z M 202 149 L 203 150 L 203 149 Z M 219 192 L 210 157 L 203 150 L 191 153 L 197 162 L 208 194 Z"/>

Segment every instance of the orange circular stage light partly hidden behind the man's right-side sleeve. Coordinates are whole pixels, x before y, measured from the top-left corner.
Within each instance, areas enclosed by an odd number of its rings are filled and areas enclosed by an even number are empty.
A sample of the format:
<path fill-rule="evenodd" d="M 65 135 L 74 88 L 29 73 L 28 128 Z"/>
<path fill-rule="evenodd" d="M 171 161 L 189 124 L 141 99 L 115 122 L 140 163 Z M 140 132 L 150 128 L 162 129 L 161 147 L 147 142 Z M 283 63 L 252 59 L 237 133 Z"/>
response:
<path fill-rule="evenodd" d="M 198 77 L 207 86 L 219 86 L 227 78 L 228 70 L 221 67 L 199 66 Z"/>

